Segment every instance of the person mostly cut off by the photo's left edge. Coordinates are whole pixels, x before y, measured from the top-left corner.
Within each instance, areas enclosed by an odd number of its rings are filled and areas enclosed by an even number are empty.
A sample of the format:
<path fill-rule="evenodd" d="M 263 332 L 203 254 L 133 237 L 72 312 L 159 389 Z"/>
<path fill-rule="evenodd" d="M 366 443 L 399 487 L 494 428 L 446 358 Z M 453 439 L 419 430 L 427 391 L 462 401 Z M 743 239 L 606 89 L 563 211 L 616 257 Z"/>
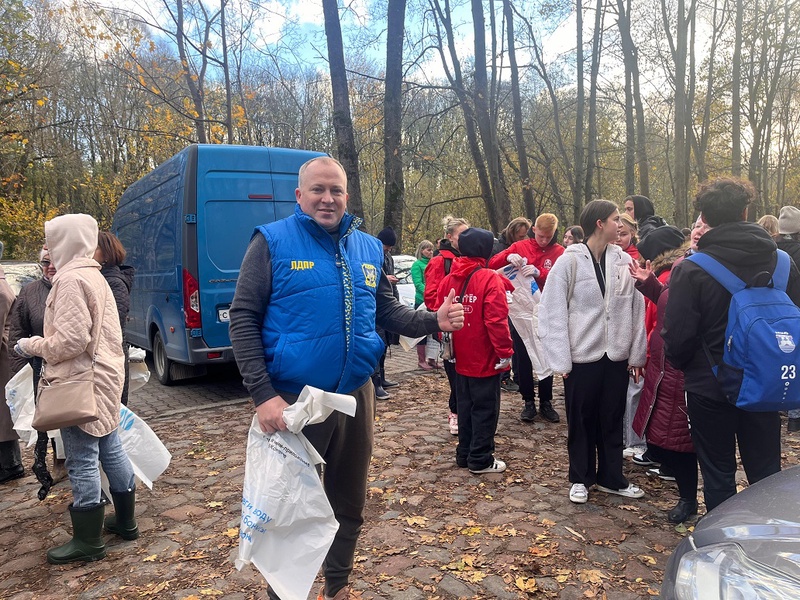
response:
<path fill-rule="evenodd" d="M 0 255 L 3 250 L 0 243 Z M 5 389 L 6 383 L 11 378 L 9 330 L 11 325 L 11 310 L 16 296 L 14 290 L 6 281 L 6 274 L 0 267 L 0 386 Z M 22 456 L 19 451 L 19 436 L 14 430 L 11 411 L 5 402 L 0 403 L 0 484 L 14 479 L 19 479 L 25 474 L 22 466 Z"/>

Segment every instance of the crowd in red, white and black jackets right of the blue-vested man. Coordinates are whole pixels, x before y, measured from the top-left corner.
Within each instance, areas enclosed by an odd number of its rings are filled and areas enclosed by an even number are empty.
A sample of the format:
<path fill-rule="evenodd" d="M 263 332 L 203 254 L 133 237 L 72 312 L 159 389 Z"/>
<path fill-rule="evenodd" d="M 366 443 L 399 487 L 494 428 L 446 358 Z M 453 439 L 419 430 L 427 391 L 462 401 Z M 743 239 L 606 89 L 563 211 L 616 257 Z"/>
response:
<path fill-rule="evenodd" d="M 685 260 L 706 253 L 750 282 L 772 274 L 776 250 L 784 250 L 793 260 L 787 294 L 800 305 L 800 209 L 785 206 L 778 217 L 750 223 L 754 198 L 746 181 L 705 183 L 695 199 L 699 216 L 683 230 L 656 215 L 644 196 L 621 207 L 595 200 L 561 238 L 549 213 L 534 222 L 515 218 L 493 241 L 466 220 L 446 217 L 444 237 L 419 245 L 415 285 L 417 305 L 436 309 L 455 290 L 465 307 L 465 327 L 452 334 L 455 351 L 444 360 L 456 464 L 473 473 L 506 468 L 493 455 L 501 389 L 519 391 L 523 422 L 560 420 L 553 376 L 534 375 L 531 348 L 508 318 L 509 279 L 519 273 L 541 291 L 544 356 L 537 358 L 564 382 L 572 502 L 587 502 L 593 490 L 642 497 L 623 475 L 626 456 L 648 475 L 675 481 L 678 502 L 666 515 L 673 523 L 698 512 L 698 465 L 707 510 L 735 493 L 737 444 L 751 483 L 778 471 L 778 413 L 734 406 L 714 375 L 731 294 Z M 429 368 L 422 356 L 420 367 Z M 800 430 L 800 410 L 788 416 L 788 431 Z"/>

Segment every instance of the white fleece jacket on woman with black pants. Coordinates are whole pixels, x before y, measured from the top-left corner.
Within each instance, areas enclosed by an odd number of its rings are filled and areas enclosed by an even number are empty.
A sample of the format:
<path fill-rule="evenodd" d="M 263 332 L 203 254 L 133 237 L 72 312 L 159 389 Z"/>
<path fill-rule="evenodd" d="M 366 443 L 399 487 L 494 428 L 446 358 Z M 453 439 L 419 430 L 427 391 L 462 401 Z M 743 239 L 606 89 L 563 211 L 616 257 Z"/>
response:
<path fill-rule="evenodd" d="M 603 354 L 644 367 L 644 297 L 628 270 L 631 260 L 619 246 L 608 246 L 603 297 L 586 244 L 573 244 L 558 258 L 539 307 L 539 336 L 553 371 L 569 373 L 573 363 L 594 362 Z"/>

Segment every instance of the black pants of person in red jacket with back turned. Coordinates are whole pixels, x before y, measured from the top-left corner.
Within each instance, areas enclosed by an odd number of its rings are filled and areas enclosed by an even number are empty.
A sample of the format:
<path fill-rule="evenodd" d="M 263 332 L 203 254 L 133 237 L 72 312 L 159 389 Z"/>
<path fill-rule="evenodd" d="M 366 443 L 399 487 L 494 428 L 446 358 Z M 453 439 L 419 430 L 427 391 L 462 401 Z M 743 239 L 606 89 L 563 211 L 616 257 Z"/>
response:
<path fill-rule="evenodd" d="M 500 418 L 500 373 L 456 377 L 458 446 L 456 464 L 479 470 L 494 462 L 494 433 Z"/>

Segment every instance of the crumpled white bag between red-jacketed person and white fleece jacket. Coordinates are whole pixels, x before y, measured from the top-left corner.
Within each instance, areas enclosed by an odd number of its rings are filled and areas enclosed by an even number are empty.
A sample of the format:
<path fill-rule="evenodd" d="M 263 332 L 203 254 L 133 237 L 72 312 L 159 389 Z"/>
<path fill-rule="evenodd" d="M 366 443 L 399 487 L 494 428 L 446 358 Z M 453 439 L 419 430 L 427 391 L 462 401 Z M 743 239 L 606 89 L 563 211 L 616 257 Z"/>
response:
<path fill-rule="evenodd" d="M 513 301 L 508 305 L 508 316 L 519 337 L 525 343 L 533 372 L 537 379 L 550 377 L 553 370 L 547 363 L 542 340 L 538 333 L 539 303 L 542 300 L 542 292 L 536 285 L 535 279 L 526 277 L 512 265 L 506 265 L 503 273 L 514 284 L 514 291 L 511 293 Z"/>

